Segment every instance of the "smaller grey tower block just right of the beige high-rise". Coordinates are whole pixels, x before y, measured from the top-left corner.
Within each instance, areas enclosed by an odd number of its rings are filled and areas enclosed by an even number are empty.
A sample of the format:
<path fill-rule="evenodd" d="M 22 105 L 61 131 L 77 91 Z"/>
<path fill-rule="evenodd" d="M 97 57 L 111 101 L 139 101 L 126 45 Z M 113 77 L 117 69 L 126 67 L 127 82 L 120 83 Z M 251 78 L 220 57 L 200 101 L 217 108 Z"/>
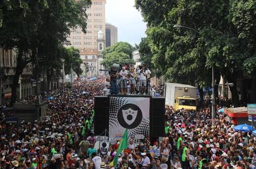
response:
<path fill-rule="evenodd" d="M 117 27 L 106 23 L 106 47 L 110 47 L 115 43 L 117 43 Z"/>

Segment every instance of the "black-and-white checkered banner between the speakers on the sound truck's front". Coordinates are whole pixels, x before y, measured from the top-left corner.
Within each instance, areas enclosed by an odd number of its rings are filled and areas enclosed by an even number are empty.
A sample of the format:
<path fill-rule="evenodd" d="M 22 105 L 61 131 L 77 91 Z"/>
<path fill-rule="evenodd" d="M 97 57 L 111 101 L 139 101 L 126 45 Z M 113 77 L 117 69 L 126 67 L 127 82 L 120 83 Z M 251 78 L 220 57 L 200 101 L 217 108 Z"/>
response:
<path fill-rule="evenodd" d="M 109 137 L 119 140 L 128 129 L 135 142 L 149 135 L 150 98 L 110 97 Z"/>

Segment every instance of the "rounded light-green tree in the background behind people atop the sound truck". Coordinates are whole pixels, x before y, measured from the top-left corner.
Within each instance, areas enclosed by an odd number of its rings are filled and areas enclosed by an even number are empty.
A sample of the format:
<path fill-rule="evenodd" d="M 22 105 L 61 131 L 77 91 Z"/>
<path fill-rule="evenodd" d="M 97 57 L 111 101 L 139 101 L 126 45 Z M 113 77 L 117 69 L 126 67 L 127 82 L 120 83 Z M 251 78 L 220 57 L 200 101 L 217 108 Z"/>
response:
<path fill-rule="evenodd" d="M 107 47 L 103 52 L 104 60 L 101 62 L 106 68 L 110 68 L 110 66 L 114 63 L 124 65 L 134 64 L 134 60 L 132 59 L 132 51 L 134 47 L 127 42 L 117 42 L 115 45 L 111 47 Z"/>

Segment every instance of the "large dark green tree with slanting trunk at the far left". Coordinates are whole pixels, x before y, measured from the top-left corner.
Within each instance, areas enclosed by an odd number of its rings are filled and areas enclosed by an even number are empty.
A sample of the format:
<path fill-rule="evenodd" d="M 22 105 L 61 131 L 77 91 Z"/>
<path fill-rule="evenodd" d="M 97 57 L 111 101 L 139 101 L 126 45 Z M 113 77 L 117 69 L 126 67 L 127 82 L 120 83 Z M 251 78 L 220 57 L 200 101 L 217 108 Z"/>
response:
<path fill-rule="evenodd" d="M 12 103 L 16 101 L 19 75 L 36 56 L 45 59 L 49 71 L 60 63 L 57 51 L 71 29 L 86 29 L 86 8 L 90 0 L 2 1 L 0 3 L 0 47 L 16 49 L 16 73 L 13 77 Z"/>

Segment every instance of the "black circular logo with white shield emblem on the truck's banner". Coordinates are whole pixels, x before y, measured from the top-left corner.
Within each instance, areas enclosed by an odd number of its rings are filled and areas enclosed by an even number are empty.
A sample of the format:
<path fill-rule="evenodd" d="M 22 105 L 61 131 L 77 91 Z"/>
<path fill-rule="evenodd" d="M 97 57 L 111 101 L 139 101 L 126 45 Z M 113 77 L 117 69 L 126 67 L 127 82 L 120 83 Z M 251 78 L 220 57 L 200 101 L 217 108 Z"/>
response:
<path fill-rule="evenodd" d="M 135 104 L 125 104 L 117 112 L 117 120 L 125 129 L 134 129 L 142 120 L 140 107 Z"/>

